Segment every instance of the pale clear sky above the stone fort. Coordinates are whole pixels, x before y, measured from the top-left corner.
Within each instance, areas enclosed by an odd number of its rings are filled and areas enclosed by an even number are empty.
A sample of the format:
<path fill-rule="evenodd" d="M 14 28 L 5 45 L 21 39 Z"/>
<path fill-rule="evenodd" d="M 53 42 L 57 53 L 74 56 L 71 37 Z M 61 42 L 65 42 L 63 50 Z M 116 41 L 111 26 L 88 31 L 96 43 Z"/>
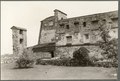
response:
<path fill-rule="evenodd" d="M 1 1 L 1 54 L 12 54 L 12 26 L 27 29 L 27 46 L 38 43 L 40 21 L 59 9 L 68 18 L 118 10 L 118 1 Z"/>

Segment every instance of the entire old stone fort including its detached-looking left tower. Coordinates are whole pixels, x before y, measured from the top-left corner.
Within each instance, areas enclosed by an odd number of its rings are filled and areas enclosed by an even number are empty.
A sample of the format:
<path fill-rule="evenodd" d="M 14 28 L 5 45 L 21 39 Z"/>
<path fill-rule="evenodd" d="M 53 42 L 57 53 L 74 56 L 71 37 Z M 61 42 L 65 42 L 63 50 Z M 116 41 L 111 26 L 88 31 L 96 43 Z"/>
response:
<path fill-rule="evenodd" d="M 118 38 L 118 11 L 67 18 L 67 14 L 55 9 L 54 15 L 41 21 L 38 44 L 27 47 L 26 29 L 13 26 L 13 54 L 24 49 L 38 58 L 72 57 L 73 52 L 84 46 L 91 56 L 102 50 L 96 45 L 102 40 L 99 27 L 110 29 L 110 36 Z"/>

